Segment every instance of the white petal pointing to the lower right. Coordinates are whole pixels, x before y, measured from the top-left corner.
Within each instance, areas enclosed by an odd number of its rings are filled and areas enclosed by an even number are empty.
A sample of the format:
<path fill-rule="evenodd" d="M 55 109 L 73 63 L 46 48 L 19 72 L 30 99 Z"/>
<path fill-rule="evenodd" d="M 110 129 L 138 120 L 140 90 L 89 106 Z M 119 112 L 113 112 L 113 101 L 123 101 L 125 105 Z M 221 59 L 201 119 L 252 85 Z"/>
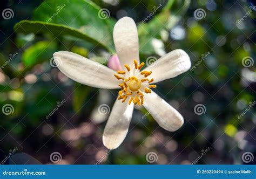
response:
<path fill-rule="evenodd" d="M 173 132 L 184 123 L 183 116 L 153 91 L 144 95 L 143 106 L 165 130 Z"/>

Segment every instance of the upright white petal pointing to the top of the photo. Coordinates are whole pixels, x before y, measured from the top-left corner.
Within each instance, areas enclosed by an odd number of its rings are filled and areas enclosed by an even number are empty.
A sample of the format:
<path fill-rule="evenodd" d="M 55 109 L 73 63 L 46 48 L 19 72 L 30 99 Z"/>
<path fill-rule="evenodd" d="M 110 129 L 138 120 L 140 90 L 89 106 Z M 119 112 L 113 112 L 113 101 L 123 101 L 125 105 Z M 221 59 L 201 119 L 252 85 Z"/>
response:
<path fill-rule="evenodd" d="M 139 63 L 139 39 L 137 27 L 130 17 L 119 19 L 114 25 L 114 46 L 122 68 L 124 64 L 134 67 L 133 60 Z"/>

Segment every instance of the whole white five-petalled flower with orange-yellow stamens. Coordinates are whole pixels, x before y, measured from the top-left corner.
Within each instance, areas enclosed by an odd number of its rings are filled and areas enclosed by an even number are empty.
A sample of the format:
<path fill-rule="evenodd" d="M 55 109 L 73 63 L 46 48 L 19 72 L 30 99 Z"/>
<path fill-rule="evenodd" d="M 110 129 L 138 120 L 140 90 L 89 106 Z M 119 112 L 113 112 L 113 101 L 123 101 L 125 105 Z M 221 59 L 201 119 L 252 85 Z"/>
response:
<path fill-rule="evenodd" d="M 120 146 L 128 132 L 134 105 L 143 105 L 164 129 L 172 132 L 179 129 L 184 123 L 183 116 L 151 88 L 156 87 L 152 82 L 176 77 L 190 69 L 187 53 L 174 50 L 141 71 L 144 63 L 139 63 L 138 32 L 132 18 L 118 20 L 113 39 L 122 71 L 116 72 L 72 52 L 53 54 L 59 70 L 72 80 L 97 88 L 120 88 L 104 130 L 104 145 L 109 149 Z"/>

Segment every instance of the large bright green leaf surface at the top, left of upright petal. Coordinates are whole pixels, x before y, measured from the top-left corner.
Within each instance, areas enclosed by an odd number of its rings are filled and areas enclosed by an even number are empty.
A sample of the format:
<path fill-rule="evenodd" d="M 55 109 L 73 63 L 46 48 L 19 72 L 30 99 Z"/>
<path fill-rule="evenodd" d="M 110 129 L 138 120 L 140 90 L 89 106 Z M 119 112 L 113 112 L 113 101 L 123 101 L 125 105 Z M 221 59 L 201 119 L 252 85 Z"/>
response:
<path fill-rule="evenodd" d="M 46 0 L 33 13 L 33 19 L 64 25 L 113 48 L 108 18 L 100 18 L 100 7 L 91 1 Z"/>

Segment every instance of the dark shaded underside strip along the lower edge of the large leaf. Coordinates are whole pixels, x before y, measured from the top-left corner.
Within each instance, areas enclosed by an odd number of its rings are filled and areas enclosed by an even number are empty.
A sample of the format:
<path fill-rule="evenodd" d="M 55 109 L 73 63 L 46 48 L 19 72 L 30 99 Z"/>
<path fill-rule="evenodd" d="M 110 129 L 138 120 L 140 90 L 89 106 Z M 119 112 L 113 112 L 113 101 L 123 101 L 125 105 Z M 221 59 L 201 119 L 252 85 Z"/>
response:
<path fill-rule="evenodd" d="M 44 23 L 40 21 L 31 21 L 31 20 L 22 20 L 21 22 L 17 23 L 14 26 L 15 32 L 20 32 L 24 34 L 29 33 L 49 33 L 50 35 L 54 35 L 56 37 L 63 36 L 63 35 L 69 35 L 72 37 L 77 37 L 83 40 L 86 40 L 87 42 L 90 42 L 92 44 L 98 45 L 100 47 L 103 47 L 106 50 L 109 50 L 109 48 L 98 42 L 96 39 L 87 36 L 85 33 L 80 32 L 77 29 L 73 29 L 71 27 L 65 26 L 65 25 L 59 25 L 59 24 L 52 24 L 52 23 Z"/>

